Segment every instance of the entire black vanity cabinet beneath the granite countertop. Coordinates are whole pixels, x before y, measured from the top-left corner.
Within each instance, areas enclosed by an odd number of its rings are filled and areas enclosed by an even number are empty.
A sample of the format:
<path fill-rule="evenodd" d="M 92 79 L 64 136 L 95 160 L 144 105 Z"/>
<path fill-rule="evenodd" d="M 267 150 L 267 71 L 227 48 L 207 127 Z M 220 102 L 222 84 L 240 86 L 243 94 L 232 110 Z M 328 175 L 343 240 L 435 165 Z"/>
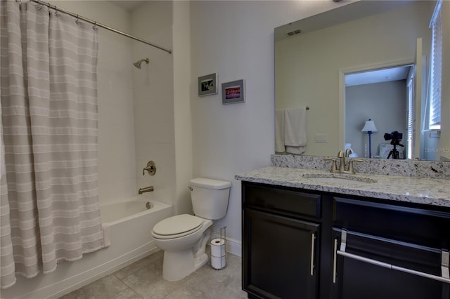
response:
<path fill-rule="evenodd" d="M 450 298 L 450 208 L 245 181 L 242 196 L 249 298 Z"/>

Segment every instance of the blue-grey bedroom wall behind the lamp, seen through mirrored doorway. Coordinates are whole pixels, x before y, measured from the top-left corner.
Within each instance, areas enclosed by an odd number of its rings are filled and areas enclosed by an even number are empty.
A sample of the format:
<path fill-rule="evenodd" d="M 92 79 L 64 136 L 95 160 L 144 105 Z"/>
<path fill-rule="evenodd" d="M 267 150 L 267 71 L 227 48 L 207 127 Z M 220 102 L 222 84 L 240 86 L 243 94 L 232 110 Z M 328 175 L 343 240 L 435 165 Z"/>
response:
<path fill-rule="evenodd" d="M 381 143 L 390 143 L 383 138 L 385 133 L 403 133 L 401 144 L 406 145 L 406 100 L 406 80 L 345 88 L 345 141 L 352 143 L 359 157 L 365 157 L 367 144 L 368 158 L 368 136 L 361 132 L 368 119 L 372 119 L 378 129 L 372 134 L 372 157 L 379 154 Z"/>

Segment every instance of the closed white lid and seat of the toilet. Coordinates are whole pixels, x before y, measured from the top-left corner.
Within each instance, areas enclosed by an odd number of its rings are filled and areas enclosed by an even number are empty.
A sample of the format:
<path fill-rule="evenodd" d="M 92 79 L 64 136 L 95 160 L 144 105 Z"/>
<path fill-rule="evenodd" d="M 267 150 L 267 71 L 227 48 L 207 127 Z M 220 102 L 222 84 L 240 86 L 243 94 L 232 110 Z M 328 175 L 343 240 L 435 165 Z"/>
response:
<path fill-rule="evenodd" d="M 189 214 L 181 214 L 161 220 L 153 227 L 153 237 L 174 239 L 197 232 L 202 227 L 203 219 Z"/>

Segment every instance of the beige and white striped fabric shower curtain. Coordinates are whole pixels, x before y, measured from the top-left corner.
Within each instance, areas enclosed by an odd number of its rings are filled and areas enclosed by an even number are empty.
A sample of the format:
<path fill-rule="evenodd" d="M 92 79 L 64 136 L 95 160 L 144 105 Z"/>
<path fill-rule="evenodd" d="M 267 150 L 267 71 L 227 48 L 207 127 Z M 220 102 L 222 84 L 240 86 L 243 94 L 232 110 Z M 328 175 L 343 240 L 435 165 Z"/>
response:
<path fill-rule="evenodd" d="M 98 36 L 45 6 L 1 0 L 1 288 L 103 248 Z"/>

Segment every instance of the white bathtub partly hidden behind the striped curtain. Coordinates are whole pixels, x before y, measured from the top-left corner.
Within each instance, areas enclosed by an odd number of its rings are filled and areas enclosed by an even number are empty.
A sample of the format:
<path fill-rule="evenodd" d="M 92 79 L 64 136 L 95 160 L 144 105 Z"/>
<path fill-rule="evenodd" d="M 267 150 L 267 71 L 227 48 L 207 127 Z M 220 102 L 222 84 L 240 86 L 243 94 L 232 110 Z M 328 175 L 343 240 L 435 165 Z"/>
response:
<path fill-rule="evenodd" d="M 150 209 L 146 208 L 147 201 Z M 109 247 L 87 253 L 72 263 L 60 263 L 49 274 L 33 279 L 18 276 L 14 286 L 1 290 L 1 298 L 58 298 L 134 263 L 158 251 L 151 230 L 171 215 L 172 206 L 145 197 L 101 206 L 103 224 L 110 230 Z"/>

